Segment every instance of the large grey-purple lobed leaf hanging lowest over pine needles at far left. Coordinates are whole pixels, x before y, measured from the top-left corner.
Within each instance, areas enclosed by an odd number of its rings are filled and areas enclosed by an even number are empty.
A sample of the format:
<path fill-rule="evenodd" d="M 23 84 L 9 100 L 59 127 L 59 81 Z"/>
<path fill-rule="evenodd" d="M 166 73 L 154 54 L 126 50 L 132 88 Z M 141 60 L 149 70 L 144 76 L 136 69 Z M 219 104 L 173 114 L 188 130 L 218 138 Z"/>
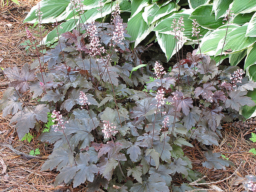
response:
<path fill-rule="evenodd" d="M 44 104 L 28 107 L 12 116 L 10 124 L 17 121 L 17 133 L 21 140 L 29 132 L 29 129 L 34 129 L 37 121 L 44 123 L 48 121 L 47 113 L 50 113 L 50 110 Z"/>

